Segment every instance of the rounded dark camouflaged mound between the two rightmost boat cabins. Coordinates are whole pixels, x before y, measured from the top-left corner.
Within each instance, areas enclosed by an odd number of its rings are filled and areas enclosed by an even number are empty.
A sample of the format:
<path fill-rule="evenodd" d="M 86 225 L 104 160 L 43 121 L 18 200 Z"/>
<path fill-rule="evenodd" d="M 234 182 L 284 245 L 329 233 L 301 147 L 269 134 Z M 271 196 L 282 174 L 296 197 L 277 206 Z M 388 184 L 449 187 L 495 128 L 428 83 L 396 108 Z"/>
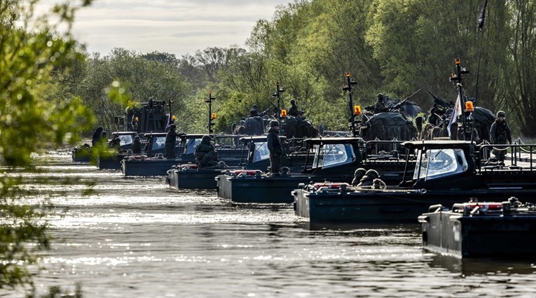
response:
<path fill-rule="evenodd" d="M 359 135 L 365 141 L 409 141 L 417 138 L 418 131 L 413 122 L 400 113 L 378 113 L 359 127 Z"/>

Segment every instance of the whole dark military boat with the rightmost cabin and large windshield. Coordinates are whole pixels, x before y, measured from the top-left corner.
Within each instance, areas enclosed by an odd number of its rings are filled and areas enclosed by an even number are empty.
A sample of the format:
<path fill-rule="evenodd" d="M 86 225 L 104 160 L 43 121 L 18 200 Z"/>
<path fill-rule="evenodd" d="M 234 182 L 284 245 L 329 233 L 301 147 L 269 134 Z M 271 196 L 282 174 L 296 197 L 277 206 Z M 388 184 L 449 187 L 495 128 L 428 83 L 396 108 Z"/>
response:
<path fill-rule="evenodd" d="M 471 141 L 408 141 L 403 145 L 417 153 L 409 160 L 401 183 L 394 187 L 350 185 L 300 185 L 292 192 L 295 213 L 310 222 L 414 221 L 428 206 L 452 205 L 478 199 L 497 201 L 515 196 L 536 203 L 536 171 L 531 162 L 518 162 L 522 147 L 536 145 L 477 146 Z M 501 147 L 501 148 L 499 148 Z M 488 159 L 490 151 L 509 150 L 507 164 Z M 343 180 L 339 180 L 343 181 Z"/>

